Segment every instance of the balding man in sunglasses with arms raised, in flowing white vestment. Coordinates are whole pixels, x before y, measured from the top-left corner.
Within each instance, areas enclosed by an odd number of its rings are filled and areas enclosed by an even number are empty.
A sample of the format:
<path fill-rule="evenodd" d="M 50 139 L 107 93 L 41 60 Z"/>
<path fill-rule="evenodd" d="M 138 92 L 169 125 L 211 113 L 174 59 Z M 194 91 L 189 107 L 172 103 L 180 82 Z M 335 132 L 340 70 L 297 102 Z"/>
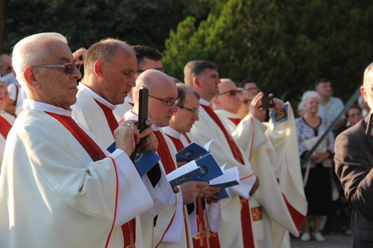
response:
<path fill-rule="evenodd" d="M 253 114 L 245 116 L 243 120 L 237 115 L 241 105 L 242 91 L 232 80 L 221 79 L 218 87 L 221 93 L 213 99 L 215 113 L 229 127 L 231 135 L 240 148 L 245 151 L 245 155 L 260 182 L 265 182 L 261 184 L 250 201 L 251 212 L 260 213 L 259 216 L 261 216 L 261 218 L 256 218 L 255 214 L 252 216 L 258 244 L 268 248 L 280 247 L 285 234 L 283 227 L 286 227 L 295 236 L 298 236 L 299 233 L 282 197 L 273 171 L 271 156 L 267 154 L 268 150 L 273 152 L 272 156 L 275 154 L 270 139 L 264 133 L 267 127 L 253 117 L 254 108 L 251 108 Z M 261 95 L 259 94 L 255 101 L 260 99 L 259 96 Z M 275 99 L 275 102 L 283 107 L 281 100 Z"/>

